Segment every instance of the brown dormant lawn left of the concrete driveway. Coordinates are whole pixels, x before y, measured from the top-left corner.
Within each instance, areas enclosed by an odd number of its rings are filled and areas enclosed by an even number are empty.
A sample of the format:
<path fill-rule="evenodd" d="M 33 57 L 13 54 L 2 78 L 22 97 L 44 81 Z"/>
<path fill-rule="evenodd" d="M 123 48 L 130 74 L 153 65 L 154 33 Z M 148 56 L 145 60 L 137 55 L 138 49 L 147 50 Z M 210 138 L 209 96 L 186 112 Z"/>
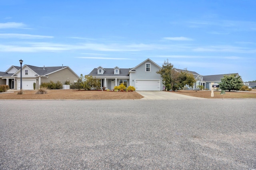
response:
<path fill-rule="evenodd" d="M 17 91 L 1 93 L 0 99 L 74 99 L 74 100 L 104 100 L 104 99 L 141 99 L 143 96 L 136 92 L 107 92 L 95 90 L 48 90 L 47 94 L 35 94 L 37 90 L 23 90 L 22 95 Z"/>

